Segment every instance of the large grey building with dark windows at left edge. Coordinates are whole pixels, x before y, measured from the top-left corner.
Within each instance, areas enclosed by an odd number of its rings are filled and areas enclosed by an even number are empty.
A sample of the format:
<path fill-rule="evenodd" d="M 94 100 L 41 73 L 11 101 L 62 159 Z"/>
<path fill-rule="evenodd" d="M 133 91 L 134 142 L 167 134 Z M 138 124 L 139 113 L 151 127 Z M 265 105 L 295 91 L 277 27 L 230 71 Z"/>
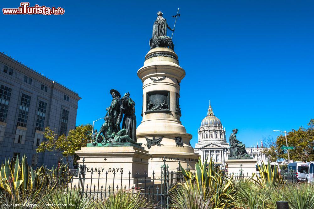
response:
<path fill-rule="evenodd" d="M 0 161 L 26 154 L 33 166 L 65 162 L 57 152 L 36 153 L 45 127 L 58 134 L 75 128 L 77 93 L 0 53 Z M 71 164 L 71 163 L 70 163 Z"/>

